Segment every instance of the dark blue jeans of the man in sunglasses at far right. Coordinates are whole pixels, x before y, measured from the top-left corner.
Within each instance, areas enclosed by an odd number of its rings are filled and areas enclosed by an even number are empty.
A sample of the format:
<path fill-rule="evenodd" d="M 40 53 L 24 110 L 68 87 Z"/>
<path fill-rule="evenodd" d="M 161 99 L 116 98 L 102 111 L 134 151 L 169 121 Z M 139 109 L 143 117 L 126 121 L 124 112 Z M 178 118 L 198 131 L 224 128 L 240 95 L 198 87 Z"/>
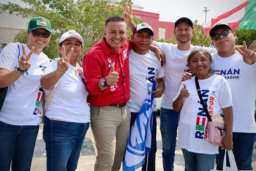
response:
<path fill-rule="evenodd" d="M 255 133 L 233 132 L 233 153 L 238 170 L 252 170 L 252 154 L 254 150 Z M 222 170 L 225 150 L 219 147 L 219 154 L 216 156 L 217 170 Z M 227 166 L 229 158 L 227 157 Z"/>

